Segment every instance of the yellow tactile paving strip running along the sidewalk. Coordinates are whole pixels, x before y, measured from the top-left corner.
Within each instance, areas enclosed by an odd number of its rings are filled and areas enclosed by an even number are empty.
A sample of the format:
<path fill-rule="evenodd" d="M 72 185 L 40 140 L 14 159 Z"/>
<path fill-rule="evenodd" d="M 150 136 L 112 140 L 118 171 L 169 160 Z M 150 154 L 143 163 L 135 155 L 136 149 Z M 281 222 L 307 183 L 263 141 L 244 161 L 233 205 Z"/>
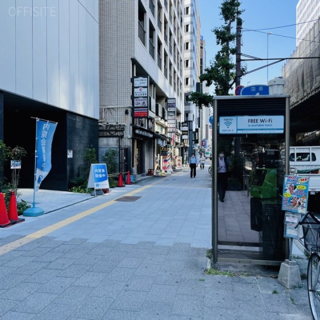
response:
<path fill-rule="evenodd" d="M 130 195 L 133 195 L 133 194 L 135 194 L 137 192 L 143 191 L 144 189 L 149 188 L 150 186 L 158 183 L 159 181 L 160 180 L 158 180 L 156 182 L 153 182 L 153 183 L 150 183 L 148 185 L 142 186 L 142 187 L 140 187 L 140 188 L 138 188 L 136 190 L 133 190 L 133 191 L 128 192 L 128 193 L 126 193 L 124 195 L 121 195 L 121 197 L 122 196 L 130 196 Z M 56 223 L 54 223 L 52 225 L 49 225 L 49 226 L 47 226 L 47 227 L 45 227 L 43 229 L 40 229 L 38 231 L 35 231 L 35 232 L 30 233 L 28 235 L 25 235 L 20 239 L 17 239 L 15 241 L 10 242 L 10 243 L 4 244 L 4 245 L 0 246 L 0 255 L 2 255 L 4 253 L 7 253 L 7 252 L 9 252 L 11 250 L 14 250 L 14 249 L 18 248 L 19 246 L 27 244 L 27 243 L 35 240 L 35 239 L 38 239 L 38 238 L 40 238 L 40 237 L 42 237 L 42 236 L 44 236 L 44 235 L 46 235 L 46 234 L 48 234 L 50 232 L 53 232 L 53 231 L 65 226 L 65 225 L 68 225 L 68 224 L 70 224 L 70 223 L 72 223 L 74 221 L 77 221 L 77 220 L 79 220 L 79 219 L 81 219 L 81 218 L 83 218 L 83 217 L 85 217 L 87 215 L 90 215 L 90 214 L 92 214 L 92 213 L 94 213 L 94 212 L 96 212 L 98 210 L 101 210 L 101 209 L 103 209 L 103 208 L 105 208 L 105 207 L 107 207 L 107 206 L 109 206 L 109 205 L 111 205 L 113 203 L 117 203 L 117 201 L 114 199 L 114 200 L 110 200 L 108 202 L 102 203 L 102 204 L 97 205 L 97 206 L 95 206 L 95 207 L 93 207 L 91 209 L 85 210 L 83 212 L 80 212 L 78 214 L 70 216 L 69 218 L 66 218 L 66 219 L 64 219 L 62 221 L 56 222 Z"/>

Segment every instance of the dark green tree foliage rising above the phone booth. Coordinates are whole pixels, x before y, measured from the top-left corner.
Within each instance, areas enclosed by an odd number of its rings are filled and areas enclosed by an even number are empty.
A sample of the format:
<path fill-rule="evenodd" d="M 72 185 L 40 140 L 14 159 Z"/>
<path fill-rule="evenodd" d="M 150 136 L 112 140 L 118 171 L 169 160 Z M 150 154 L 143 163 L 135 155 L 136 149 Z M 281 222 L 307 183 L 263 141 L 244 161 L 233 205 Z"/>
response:
<path fill-rule="evenodd" d="M 214 59 L 210 60 L 210 66 L 204 69 L 204 73 L 200 75 L 200 82 L 206 81 L 206 86 L 212 83 L 215 87 L 216 95 L 228 95 L 236 80 L 236 63 L 234 55 L 237 52 L 236 25 L 242 27 L 242 19 L 240 17 L 243 10 L 239 9 L 241 2 L 238 0 L 223 0 L 221 3 L 220 13 L 223 25 L 215 27 L 212 32 L 215 34 L 216 44 L 221 46 L 217 51 Z M 235 31 L 233 31 L 235 30 Z M 246 71 L 246 66 L 241 65 L 241 74 Z M 209 100 L 211 102 L 209 103 Z M 189 100 L 198 107 L 201 104 L 210 106 L 212 104 L 212 96 L 202 92 L 190 92 Z"/>

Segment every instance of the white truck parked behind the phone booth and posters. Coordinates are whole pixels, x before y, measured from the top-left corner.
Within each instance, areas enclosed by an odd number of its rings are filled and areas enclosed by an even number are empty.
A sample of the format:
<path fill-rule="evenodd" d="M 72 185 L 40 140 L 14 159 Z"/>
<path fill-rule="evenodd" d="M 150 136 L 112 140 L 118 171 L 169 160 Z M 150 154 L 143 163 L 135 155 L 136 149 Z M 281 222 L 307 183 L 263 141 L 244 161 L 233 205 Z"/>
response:
<path fill-rule="evenodd" d="M 309 177 L 308 210 L 320 211 L 320 146 L 290 146 L 289 173 Z"/>

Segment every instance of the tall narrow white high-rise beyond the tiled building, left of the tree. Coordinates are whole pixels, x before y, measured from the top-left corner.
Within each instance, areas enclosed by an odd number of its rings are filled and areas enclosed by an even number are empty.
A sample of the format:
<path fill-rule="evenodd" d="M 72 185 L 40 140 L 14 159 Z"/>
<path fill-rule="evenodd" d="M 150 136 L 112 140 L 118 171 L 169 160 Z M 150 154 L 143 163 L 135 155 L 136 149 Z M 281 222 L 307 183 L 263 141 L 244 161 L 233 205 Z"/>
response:
<path fill-rule="evenodd" d="M 199 151 L 201 143 L 199 110 L 188 100 L 189 92 L 197 90 L 200 56 L 200 17 L 197 0 L 184 0 L 184 118 L 189 125 L 189 154 L 192 150 Z"/>

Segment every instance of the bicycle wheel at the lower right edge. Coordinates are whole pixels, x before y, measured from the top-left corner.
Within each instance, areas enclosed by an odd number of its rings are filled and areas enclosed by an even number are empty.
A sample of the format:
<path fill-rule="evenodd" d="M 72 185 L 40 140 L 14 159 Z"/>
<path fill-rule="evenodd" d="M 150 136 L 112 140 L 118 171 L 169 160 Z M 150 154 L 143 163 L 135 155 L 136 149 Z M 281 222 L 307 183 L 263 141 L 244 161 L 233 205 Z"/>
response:
<path fill-rule="evenodd" d="M 309 257 L 307 269 L 307 290 L 314 320 L 320 320 L 320 257 L 314 252 Z"/>

